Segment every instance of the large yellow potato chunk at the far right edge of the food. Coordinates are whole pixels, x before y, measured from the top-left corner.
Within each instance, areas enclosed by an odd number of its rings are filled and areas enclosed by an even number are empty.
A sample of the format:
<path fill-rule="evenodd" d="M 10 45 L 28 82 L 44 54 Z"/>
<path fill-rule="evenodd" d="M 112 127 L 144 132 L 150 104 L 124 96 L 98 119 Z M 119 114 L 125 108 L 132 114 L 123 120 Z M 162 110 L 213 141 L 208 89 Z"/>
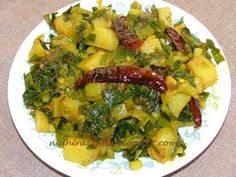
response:
<path fill-rule="evenodd" d="M 187 69 L 199 79 L 203 90 L 212 86 L 217 81 L 216 67 L 204 56 L 194 57 L 187 63 Z"/>

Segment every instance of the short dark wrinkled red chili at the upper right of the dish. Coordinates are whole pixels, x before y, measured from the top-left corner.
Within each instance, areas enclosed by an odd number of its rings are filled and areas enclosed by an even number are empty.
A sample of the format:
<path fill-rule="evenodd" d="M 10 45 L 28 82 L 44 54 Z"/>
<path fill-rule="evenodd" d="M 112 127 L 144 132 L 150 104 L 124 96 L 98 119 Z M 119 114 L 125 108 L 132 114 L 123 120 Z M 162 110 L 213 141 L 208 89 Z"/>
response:
<path fill-rule="evenodd" d="M 186 46 L 186 43 L 185 43 L 183 37 L 181 35 L 179 35 L 175 29 L 168 27 L 165 29 L 165 33 L 170 37 L 170 39 L 177 51 L 186 52 L 186 53 L 191 51 Z"/>

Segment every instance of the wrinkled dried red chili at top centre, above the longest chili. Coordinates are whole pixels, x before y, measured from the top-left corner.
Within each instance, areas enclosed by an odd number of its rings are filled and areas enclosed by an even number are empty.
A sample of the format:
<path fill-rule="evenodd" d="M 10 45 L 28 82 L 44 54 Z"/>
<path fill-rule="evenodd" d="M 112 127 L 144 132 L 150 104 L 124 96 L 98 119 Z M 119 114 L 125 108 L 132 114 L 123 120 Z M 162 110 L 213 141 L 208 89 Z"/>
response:
<path fill-rule="evenodd" d="M 122 45 L 132 50 L 138 49 L 143 44 L 143 41 L 130 33 L 125 23 L 126 17 L 119 17 L 113 23 L 114 30 Z"/>

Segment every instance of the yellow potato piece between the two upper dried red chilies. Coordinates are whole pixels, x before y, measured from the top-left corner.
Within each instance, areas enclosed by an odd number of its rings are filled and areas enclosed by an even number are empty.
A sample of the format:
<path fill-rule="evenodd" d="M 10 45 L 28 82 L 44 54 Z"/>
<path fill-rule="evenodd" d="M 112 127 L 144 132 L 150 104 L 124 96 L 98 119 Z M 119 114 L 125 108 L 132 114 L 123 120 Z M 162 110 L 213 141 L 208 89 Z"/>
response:
<path fill-rule="evenodd" d="M 155 36 L 148 37 L 140 48 L 140 51 L 146 54 L 154 53 L 156 50 L 162 51 L 163 49 L 160 40 Z"/>

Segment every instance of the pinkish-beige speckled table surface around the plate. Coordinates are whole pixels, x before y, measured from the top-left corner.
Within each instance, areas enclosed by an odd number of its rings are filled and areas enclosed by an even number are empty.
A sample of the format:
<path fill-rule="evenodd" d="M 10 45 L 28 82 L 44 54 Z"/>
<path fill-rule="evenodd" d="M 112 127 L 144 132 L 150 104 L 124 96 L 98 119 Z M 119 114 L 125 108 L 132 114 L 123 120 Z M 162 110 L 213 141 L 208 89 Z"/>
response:
<path fill-rule="evenodd" d="M 75 0 L 74 0 L 75 1 Z M 7 80 L 14 56 L 26 36 L 53 12 L 72 0 L 1 0 L 0 6 L 0 176 L 62 176 L 25 146 L 17 134 L 7 102 Z M 173 176 L 235 176 L 236 174 L 236 1 L 167 0 L 200 20 L 216 37 L 227 57 L 232 97 L 227 119 L 210 147 Z"/>

